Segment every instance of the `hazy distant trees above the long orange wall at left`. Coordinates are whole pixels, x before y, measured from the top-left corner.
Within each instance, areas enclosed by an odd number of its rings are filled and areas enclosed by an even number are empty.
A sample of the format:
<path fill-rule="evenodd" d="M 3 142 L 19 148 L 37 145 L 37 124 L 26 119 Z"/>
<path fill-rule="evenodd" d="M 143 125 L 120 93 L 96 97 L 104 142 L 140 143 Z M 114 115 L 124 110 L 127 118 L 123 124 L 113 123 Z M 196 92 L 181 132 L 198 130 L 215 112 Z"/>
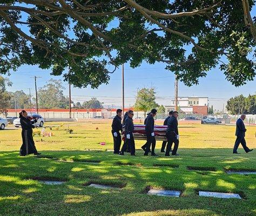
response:
<path fill-rule="evenodd" d="M 23 90 L 9 92 L 7 86 L 12 83 L 8 78 L 0 76 L 0 114 L 8 109 L 32 109 L 36 107 L 36 98 L 26 94 Z M 39 109 L 68 109 L 69 97 L 63 94 L 61 80 L 50 79 L 49 82 L 37 91 Z M 71 103 L 73 103 L 71 101 Z M 102 103 L 97 98 L 91 98 L 83 104 L 77 102 L 76 109 L 102 109 Z"/>

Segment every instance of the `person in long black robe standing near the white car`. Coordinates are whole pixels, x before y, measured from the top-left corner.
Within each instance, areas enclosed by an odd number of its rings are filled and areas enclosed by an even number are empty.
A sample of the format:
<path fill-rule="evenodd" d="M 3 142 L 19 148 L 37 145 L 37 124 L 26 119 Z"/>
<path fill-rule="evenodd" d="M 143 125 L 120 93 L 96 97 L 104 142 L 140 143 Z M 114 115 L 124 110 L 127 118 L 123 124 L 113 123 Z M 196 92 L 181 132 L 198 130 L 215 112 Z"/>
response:
<path fill-rule="evenodd" d="M 37 152 L 35 142 L 33 140 L 32 129 L 35 128 L 33 124 L 35 124 L 37 120 L 30 119 L 30 117 L 28 117 L 28 113 L 25 110 L 22 110 L 19 113 L 19 118 L 21 120 L 22 126 L 22 146 L 21 150 L 19 150 L 19 155 L 26 156 L 28 154 L 41 154 Z"/>

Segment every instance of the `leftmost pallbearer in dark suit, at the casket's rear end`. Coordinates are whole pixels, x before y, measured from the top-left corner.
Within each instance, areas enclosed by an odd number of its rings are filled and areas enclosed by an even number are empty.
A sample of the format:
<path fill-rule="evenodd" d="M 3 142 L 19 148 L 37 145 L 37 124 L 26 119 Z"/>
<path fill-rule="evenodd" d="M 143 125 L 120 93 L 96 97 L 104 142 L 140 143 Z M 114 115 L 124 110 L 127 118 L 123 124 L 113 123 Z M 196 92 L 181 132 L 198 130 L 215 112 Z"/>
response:
<path fill-rule="evenodd" d="M 119 154 L 120 146 L 121 146 L 121 135 L 120 131 L 122 132 L 122 110 L 117 109 L 117 115 L 113 119 L 112 123 L 112 135 L 114 139 L 114 154 Z"/>

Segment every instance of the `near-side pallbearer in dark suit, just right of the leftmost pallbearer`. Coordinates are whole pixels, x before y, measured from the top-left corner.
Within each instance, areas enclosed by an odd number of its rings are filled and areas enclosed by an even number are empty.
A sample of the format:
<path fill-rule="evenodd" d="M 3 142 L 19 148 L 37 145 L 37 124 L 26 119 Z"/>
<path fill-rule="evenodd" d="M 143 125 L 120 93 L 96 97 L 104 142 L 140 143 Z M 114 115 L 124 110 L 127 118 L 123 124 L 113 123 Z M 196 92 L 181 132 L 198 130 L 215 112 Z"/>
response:
<path fill-rule="evenodd" d="M 126 149 L 126 146 L 129 145 L 131 156 L 135 156 L 135 143 L 133 138 L 133 131 L 134 131 L 134 125 L 133 125 L 133 111 L 128 111 L 128 116 L 125 119 L 125 142 L 122 147 L 122 151 L 119 153 L 119 155 L 124 155 L 124 150 Z"/>

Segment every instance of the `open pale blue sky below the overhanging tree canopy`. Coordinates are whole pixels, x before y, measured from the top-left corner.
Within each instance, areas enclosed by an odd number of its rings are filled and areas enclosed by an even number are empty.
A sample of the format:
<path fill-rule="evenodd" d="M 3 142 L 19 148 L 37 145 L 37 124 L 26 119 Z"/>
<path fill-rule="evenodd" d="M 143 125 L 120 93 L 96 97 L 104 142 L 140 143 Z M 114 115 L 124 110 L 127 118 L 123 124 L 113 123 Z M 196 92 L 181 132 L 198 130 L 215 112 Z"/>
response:
<path fill-rule="evenodd" d="M 252 16 L 256 15 L 256 8 L 252 10 Z M 125 64 L 125 106 L 132 106 L 137 93 L 137 88 L 154 86 L 157 88 L 157 102 L 163 105 L 170 105 L 174 97 L 174 75 L 170 71 L 164 70 L 164 63 L 150 65 L 143 63 L 137 69 L 131 69 L 129 63 Z M 23 90 L 35 95 L 35 83 L 33 76 L 39 76 L 37 86 L 42 87 L 50 78 L 62 79 L 62 77 L 51 76 L 50 70 L 42 70 L 37 66 L 24 65 L 17 72 L 11 73 L 9 78 L 13 85 L 8 87 L 9 91 Z M 101 85 L 98 89 L 90 87 L 79 89 L 72 87 L 72 100 L 84 102 L 91 97 L 97 97 L 106 106 L 121 106 L 122 104 L 122 68 L 117 69 L 110 75 L 108 85 Z M 68 95 L 68 84 L 63 82 L 64 94 Z M 219 69 L 208 72 L 205 78 L 199 79 L 199 85 L 187 87 L 179 82 L 179 96 L 199 96 L 209 97 L 210 105 L 214 109 L 223 109 L 223 104 L 230 97 L 237 95 L 249 95 L 256 93 L 256 81 L 247 82 L 246 85 L 235 87 L 225 79 L 224 74 Z"/>

